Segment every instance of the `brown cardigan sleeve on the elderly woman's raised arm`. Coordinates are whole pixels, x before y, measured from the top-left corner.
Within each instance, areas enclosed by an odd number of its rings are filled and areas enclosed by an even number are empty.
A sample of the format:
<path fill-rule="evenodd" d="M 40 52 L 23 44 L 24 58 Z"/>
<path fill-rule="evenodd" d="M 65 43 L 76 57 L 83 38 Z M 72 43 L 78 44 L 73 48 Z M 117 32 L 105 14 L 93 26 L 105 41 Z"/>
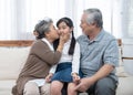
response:
<path fill-rule="evenodd" d="M 43 41 L 37 41 L 31 48 L 31 54 L 38 56 L 45 63 L 54 65 L 61 57 L 60 51 L 51 51 L 48 44 Z"/>

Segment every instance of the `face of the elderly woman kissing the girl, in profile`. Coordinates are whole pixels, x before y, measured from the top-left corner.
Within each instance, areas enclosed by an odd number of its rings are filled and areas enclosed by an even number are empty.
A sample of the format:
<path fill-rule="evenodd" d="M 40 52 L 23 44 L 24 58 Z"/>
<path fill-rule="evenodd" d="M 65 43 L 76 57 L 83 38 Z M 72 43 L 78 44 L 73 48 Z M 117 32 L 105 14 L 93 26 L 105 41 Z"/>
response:
<path fill-rule="evenodd" d="M 53 23 L 50 25 L 50 32 L 49 32 L 48 36 L 53 41 L 59 39 L 58 30 L 55 29 Z"/>

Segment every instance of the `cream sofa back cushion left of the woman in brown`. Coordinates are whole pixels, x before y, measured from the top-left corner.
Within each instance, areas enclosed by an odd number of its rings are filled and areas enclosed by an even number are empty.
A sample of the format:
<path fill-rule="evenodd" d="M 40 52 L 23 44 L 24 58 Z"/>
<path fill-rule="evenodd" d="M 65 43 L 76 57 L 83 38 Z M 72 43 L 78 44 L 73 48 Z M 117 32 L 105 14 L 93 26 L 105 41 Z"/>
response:
<path fill-rule="evenodd" d="M 16 80 L 29 54 L 27 48 L 0 48 L 0 80 Z"/>

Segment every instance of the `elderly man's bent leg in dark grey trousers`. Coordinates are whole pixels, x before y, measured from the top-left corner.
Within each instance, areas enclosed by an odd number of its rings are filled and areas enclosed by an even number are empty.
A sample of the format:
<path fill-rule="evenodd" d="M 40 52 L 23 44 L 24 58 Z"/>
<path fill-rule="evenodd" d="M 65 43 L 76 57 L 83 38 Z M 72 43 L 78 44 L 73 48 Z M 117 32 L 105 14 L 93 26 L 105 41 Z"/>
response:
<path fill-rule="evenodd" d="M 115 95 L 116 82 L 111 77 L 98 81 L 94 95 Z"/>

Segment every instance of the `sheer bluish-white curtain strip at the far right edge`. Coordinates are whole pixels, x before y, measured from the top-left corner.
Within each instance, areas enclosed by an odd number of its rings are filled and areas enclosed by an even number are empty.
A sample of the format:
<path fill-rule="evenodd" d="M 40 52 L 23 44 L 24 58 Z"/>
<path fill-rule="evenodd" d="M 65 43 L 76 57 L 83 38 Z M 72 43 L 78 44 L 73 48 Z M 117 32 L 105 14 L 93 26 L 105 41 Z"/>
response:
<path fill-rule="evenodd" d="M 122 36 L 124 39 L 133 39 L 133 1 L 123 0 L 122 9 Z"/>

